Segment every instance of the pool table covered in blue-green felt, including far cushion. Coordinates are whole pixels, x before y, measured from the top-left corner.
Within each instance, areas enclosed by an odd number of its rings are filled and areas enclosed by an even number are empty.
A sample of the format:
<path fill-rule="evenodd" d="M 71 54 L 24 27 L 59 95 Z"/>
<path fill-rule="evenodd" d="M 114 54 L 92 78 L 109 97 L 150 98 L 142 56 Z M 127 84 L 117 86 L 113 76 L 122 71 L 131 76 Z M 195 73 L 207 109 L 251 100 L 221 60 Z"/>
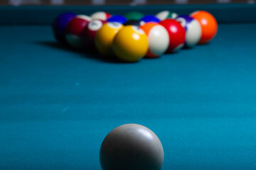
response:
<path fill-rule="evenodd" d="M 55 41 L 61 12 L 213 13 L 193 49 L 108 60 Z M 112 129 L 138 123 L 164 147 L 163 170 L 256 169 L 256 5 L 0 6 L 0 169 L 101 169 Z"/>

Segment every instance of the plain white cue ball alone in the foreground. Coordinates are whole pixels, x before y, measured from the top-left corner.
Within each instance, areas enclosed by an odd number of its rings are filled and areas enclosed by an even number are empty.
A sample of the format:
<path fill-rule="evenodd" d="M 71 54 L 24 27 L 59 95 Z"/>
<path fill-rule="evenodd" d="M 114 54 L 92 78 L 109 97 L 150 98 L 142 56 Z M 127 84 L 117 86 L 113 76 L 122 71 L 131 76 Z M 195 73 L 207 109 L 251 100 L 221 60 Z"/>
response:
<path fill-rule="evenodd" d="M 164 149 L 159 137 L 138 124 L 114 128 L 100 147 L 102 170 L 160 170 Z"/>

